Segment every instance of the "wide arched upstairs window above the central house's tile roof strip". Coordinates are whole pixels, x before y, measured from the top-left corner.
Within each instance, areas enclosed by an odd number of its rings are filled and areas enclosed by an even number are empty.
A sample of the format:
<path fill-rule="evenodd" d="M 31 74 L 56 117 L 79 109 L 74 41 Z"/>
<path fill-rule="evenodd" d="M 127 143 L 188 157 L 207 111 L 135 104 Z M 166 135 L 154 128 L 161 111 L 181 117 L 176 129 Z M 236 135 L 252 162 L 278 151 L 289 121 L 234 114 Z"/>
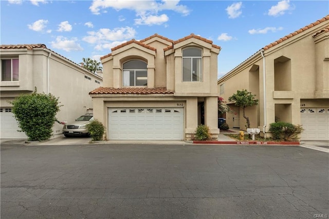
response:
<path fill-rule="evenodd" d="M 123 64 L 123 86 L 148 86 L 147 63 L 134 59 Z"/>

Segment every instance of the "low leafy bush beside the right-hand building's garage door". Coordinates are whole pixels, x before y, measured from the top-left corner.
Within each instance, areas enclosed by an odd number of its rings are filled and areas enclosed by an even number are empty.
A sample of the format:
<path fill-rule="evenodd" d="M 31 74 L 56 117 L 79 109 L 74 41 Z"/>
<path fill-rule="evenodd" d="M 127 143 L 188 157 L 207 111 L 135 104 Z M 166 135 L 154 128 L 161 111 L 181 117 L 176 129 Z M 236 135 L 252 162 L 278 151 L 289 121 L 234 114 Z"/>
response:
<path fill-rule="evenodd" d="M 290 141 L 291 138 L 296 137 L 298 134 L 302 133 L 303 130 L 301 125 L 293 125 L 286 122 L 271 123 L 269 128 L 274 140 L 283 138 L 284 141 Z"/>

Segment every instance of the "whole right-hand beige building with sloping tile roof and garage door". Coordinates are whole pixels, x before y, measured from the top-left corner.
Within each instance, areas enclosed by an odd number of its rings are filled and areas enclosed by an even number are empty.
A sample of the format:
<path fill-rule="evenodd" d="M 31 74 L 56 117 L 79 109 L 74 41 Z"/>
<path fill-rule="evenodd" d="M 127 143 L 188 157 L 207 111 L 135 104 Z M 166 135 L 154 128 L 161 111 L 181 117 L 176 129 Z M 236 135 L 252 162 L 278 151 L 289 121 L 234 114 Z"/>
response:
<path fill-rule="evenodd" d="M 217 84 L 226 101 L 237 90 L 256 95 L 259 106 L 246 115 L 263 135 L 279 120 L 303 125 L 301 140 L 329 140 L 329 15 L 263 47 Z M 226 123 L 246 130 L 242 109 L 228 106 Z"/>

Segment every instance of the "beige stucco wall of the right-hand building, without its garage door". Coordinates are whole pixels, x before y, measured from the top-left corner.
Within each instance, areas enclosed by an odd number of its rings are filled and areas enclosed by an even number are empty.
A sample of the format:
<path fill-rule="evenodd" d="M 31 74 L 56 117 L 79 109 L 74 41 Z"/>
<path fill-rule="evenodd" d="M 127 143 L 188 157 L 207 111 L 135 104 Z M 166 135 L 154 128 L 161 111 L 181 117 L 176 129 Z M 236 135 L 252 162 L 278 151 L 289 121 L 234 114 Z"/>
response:
<path fill-rule="evenodd" d="M 256 94 L 259 99 L 258 107 L 249 107 L 246 110 L 250 118 L 252 128 L 259 126 L 263 131 L 268 130 L 269 124 L 275 122 L 275 117 L 280 121 L 300 124 L 300 108 L 307 104 L 308 107 L 323 106 L 329 103 L 328 71 L 328 32 L 324 32 L 321 39 L 317 40 L 314 34 L 327 26 L 325 21 L 313 28 L 286 39 L 276 46 L 255 53 L 244 63 L 231 72 L 218 79 L 217 89 L 224 84 L 225 91 L 220 94 L 227 101 L 228 97 L 236 90 L 247 89 Z M 263 65 L 265 62 L 265 67 Z M 259 66 L 258 77 L 250 74 L 254 66 Z M 266 105 L 264 107 L 264 83 L 265 70 Z M 252 75 L 252 76 L 251 76 Z M 258 80 L 258 83 L 251 82 Z M 324 82 L 324 83 L 323 83 Z M 255 88 L 259 86 L 259 88 Z M 316 99 L 321 97 L 321 99 Z M 264 111 L 266 110 L 266 117 Z M 226 122 L 232 127 L 231 115 L 227 114 Z M 242 111 L 240 111 L 240 118 Z M 265 122 L 266 120 L 266 122 Z M 245 119 L 241 118 L 240 128 L 245 130 Z"/>

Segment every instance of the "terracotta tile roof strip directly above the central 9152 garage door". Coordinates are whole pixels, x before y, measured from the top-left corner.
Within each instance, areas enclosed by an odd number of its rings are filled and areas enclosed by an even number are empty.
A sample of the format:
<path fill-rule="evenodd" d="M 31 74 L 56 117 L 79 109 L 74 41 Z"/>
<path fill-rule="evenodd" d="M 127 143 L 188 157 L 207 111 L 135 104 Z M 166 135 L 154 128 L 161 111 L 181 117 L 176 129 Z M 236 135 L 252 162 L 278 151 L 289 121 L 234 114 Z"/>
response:
<path fill-rule="evenodd" d="M 173 94 L 165 87 L 160 88 L 144 88 L 144 87 L 124 87 L 124 88 L 109 88 L 99 87 L 89 94 Z"/>

